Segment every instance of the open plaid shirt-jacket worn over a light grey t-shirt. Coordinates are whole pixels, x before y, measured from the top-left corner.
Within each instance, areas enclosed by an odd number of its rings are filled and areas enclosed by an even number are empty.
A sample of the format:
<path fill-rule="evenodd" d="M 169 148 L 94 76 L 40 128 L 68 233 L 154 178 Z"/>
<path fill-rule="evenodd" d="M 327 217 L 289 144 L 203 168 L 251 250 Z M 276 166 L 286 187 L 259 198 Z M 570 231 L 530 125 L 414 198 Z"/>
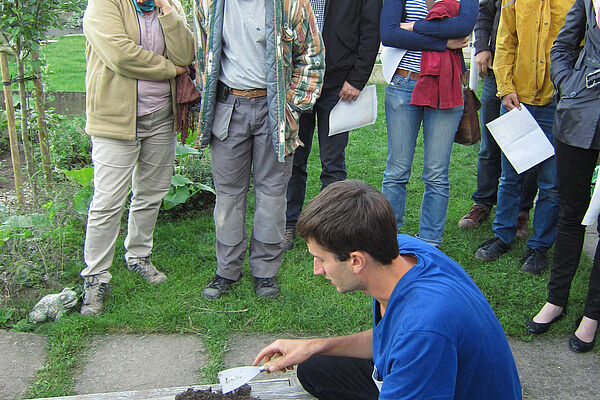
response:
<path fill-rule="evenodd" d="M 208 146 L 221 69 L 224 0 L 194 0 L 197 85 L 202 90 L 196 146 Z M 319 98 L 325 51 L 308 0 L 267 0 L 267 101 L 273 147 L 279 161 L 293 154 L 300 114 Z M 205 8 L 206 6 L 206 8 Z M 272 7 L 272 8 L 271 8 Z M 272 19 L 271 19 L 272 18 Z M 269 33 L 272 32 L 272 35 Z"/>

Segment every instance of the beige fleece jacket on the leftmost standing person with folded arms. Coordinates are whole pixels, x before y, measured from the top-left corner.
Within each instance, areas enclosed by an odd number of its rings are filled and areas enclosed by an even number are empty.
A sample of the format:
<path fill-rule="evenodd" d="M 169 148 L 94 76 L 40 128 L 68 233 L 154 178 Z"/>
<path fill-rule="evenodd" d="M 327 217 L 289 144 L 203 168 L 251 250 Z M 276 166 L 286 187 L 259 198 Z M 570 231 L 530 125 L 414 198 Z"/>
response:
<path fill-rule="evenodd" d="M 83 17 L 86 37 L 86 132 L 121 140 L 136 137 L 137 80 L 169 79 L 175 99 L 175 65 L 194 59 L 194 39 L 178 0 L 158 19 L 165 54 L 144 50 L 132 0 L 89 0 Z M 173 101 L 173 112 L 176 103 Z"/>

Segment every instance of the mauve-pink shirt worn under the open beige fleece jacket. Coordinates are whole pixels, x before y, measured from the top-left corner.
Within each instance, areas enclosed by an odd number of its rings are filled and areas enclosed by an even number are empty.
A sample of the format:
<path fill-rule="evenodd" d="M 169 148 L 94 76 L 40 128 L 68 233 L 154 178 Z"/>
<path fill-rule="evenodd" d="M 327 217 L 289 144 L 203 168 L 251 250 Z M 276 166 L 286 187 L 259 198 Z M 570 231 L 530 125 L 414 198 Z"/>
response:
<path fill-rule="evenodd" d="M 141 45 L 144 50 L 164 54 L 165 38 L 158 22 L 158 10 L 137 14 L 140 24 Z M 171 101 L 171 85 L 168 80 L 144 81 L 138 79 L 137 115 L 148 115 L 165 107 Z"/>

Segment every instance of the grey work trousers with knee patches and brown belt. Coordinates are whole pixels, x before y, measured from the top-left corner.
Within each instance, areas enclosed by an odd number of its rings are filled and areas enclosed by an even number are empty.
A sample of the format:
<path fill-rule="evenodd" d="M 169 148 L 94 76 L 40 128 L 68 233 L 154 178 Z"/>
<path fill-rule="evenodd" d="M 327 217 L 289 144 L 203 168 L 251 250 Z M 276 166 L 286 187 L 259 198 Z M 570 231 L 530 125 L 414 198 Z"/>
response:
<path fill-rule="evenodd" d="M 254 221 L 248 262 L 252 275 L 271 278 L 281 266 L 287 183 L 292 157 L 277 160 L 269 134 L 266 97 L 219 96 L 210 142 L 217 200 L 217 275 L 237 281 L 248 249 L 246 198 L 252 170 Z"/>

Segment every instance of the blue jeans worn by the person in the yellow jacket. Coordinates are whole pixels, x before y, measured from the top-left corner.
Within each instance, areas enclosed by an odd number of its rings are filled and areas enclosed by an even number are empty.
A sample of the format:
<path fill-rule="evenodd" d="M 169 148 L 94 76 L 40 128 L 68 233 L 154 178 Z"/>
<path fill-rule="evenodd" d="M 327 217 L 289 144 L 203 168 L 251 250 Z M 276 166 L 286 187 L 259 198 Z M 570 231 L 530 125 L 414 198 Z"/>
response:
<path fill-rule="evenodd" d="M 552 124 L 556 103 L 545 106 L 526 105 L 539 126 L 542 128 L 550 143 L 552 139 Z M 502 106 L 501 113 L 507 110 Z M 558 221 L 558 185 L 556 181 L 556 158 L 554 156 L 542 161 L 535 167 L 537 172 L 537 186 L 539 189 L 538 200 L 533 213 L 533 236 L 527 241 L 527 247 L 547 251 L 556 238 L 556 224 Z M 494 235 L 504 243 L 511 244 L 515 234 L 519 214 L 519 202 L 523 179 L 526 172 L 517 174 L 512 164 L 502 154 L 502 177 L 498 188 L 498 205 L 496 206 L 496 220 L 492 225 Z"/>

